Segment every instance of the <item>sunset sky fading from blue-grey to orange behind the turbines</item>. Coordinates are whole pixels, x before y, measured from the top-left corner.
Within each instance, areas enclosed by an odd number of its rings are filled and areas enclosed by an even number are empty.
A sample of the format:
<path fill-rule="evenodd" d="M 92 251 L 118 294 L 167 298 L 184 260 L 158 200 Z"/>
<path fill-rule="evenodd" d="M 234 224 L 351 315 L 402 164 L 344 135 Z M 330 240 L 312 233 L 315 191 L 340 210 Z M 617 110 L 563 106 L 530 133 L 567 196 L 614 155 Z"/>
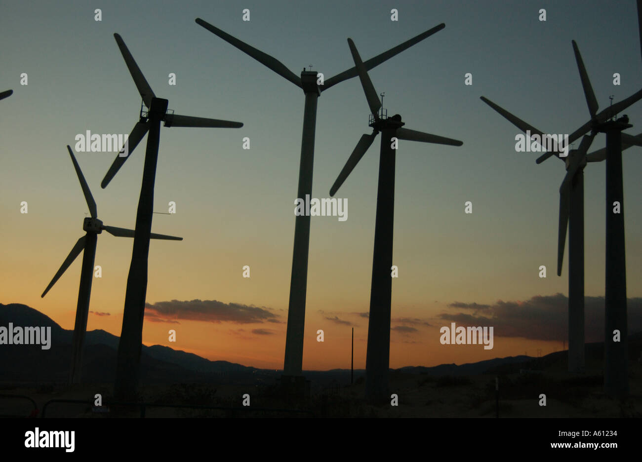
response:
<path fill-rule="evenodd" d="M 143 341 L 213 360 L 281 369 L 284 359 L 304 94 L 195 23 L 200 17 L 299 75 L 325 79 L 444 22 L 446 28 L 369 72 L 388 114 L 462 147 L 401 141 L 396 156 L 390 366 L 469 363 L 560 350 L 568 253 L 557 267 L 564 164 L 517 153 L 517 129 L 485 96 L 548 133 L 589 119 L 575 39 L 600 110 L 642 86 L 636 4 L 604 1 L 85 1 L 0 0 L 0 303 L 29 305 L 73 329 L 81 257 L 45 298 L 84 232 L 88 209 L 65 146 L 92 133 L 130 133 L 141 98 L 119 33 L 169 108 L 241 121 L 239 129 L 161 128 Z M 101 8 L 102 21 L 94 21 Z M 242 21 L 242 10 L 250 21 Z M 390 10 L 399 21 L 390 21 Z M 546 21 L 539 10 L 546 8 Z M 21 85 L 21 74 L 28 85 Z M 168 84 L 176 74 L 177 85 Z M 473 74 L 473 85 L 464 75 Z M 621 85 L 613 85 L 620 73 Z M 358 78 L 318 100 L 313 197 L 329 189 L 369 108 Z M 642 102 L 625 114 L 642 132 Z M 243 137 L 250 150 L 243 150 Z M 76 158 L 105 225 L 134 228 L 146 138 L 101 189 L 116 153 Z M 605 145 L 596 136 L 591 150 Z M 577 143 L 575 145 L 577 148 Z M 347 220 L 311 219 L 303 368 L 365 367 L 379 139 L 336 194 Z M 630 331 L 642 329 L 642 153 L 623 153 Z M 605 164 L 585 171 L 586 339 L 603 339 Z M 21 214 L 21 202 L 28 213 Z M 464 213 L 472 201 L 473 213 Z M 133 239 L 98 237 L 88 329 L 119 335 Z M 568 245 L 567 245 L 568 249 Z M 243 266 L 250 278 L 243 278 Z M 539 277 L 545 265 L 547 277 Z M 440 345 L 452 321 L 494 326 L 494 348 Z M 169 343 L 168 330 L 177 341 Z M 323 329 L 325 341 L 317 342 Z M 55 345 L 52 346 L 55 348 Z"/>

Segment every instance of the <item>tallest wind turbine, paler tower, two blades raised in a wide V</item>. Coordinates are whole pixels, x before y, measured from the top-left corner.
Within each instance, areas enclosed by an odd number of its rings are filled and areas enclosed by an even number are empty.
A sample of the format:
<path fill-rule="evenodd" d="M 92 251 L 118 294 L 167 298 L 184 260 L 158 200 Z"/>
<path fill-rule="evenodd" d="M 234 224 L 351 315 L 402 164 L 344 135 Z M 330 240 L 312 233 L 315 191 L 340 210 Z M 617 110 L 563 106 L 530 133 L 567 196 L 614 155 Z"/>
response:
<path fill-rule="evenodd" d="M 299 187 L 297 189 L 298 198 L 305 200 L 306 195 L 311 197 L 312 194 L 312 173 L 315 153 L 315 128 L 317 124 L 317 98 L 324 90 L 333 87 L 343 80 L 350 79 L 357 75 L 355 67 L 347 69 L 342 73 L 324 80 L 322 84 L 318 83 L 317 71 L 306 71 L 304 68 L 301 76 L 297 76 L 288 69 L 279 60 L 273 58 L 263 51 L 241 42 L 241 40 L 232 37 L 219 28 L 214 27 L 209 22 L 200 18 L 196 19 L 196 24 L 218 35 L 221 39 L 237 47 L 247 55 L 256 59 L 261 64 L 269 67 L 275 73 L 279 74 L 286 80 L 291 81 L 297 87 L 303 90 L 306 96 L 306 103 L 303 113 L 303 133 L 301 137 L 301 157 L 299 163 Z M 376 65 L 385 62 L 392 56 L 401 53 L 404 49 L 413 46 L 442 30 L 446 24 L 438 24 L 410 40 L 381 53 L 380 55 L 370 58 L 363 63 L 366 70 L 372 69 Z M 295 382 L 295 377 L 301 376 L 303 364 L 303 335 L 306 316 L 306 290 L 308 284 L 308 249 L 310 238 L 310 217 L 301 215 L 295 217 L 294 228 L 294 250 L 292 255 L 292 273 L 290 279 L 290 302 L 288 304 L 288 328 L 286 332 L 285 359 L 283 366 L 284 381 Z"/>

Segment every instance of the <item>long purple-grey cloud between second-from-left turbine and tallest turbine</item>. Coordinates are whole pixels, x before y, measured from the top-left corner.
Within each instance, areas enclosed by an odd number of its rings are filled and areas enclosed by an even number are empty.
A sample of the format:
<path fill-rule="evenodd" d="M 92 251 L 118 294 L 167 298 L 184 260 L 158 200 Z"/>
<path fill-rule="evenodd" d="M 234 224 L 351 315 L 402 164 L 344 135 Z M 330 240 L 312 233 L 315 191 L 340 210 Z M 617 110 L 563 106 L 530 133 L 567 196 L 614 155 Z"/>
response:
<path fill-rule="evenodd" d="M 248 324 L 274 322 L 279 315 L 268 311 L 265 307 L 254 305 L 226 304 L 217 300 L 171 300 L 171 302 L 145 304 L 145 317 L 157 322 L 176 323 L 176 320 L 188 320 Z"/>

